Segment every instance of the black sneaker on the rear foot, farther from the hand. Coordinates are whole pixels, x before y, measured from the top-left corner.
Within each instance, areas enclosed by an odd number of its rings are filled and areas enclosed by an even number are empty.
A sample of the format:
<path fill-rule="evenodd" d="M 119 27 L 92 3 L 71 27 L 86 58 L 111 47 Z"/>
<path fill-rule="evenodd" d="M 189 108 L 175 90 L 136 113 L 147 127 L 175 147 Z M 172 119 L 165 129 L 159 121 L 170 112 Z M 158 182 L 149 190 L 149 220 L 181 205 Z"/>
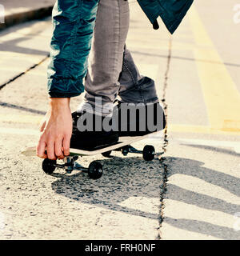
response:
<path fill-rule="evenodd" d="M 143 136 L 166 127 L 166 117 L 159 102 L 147 104 L 118 102 L 114 114 L 118 116 L 119 137 Z"/>

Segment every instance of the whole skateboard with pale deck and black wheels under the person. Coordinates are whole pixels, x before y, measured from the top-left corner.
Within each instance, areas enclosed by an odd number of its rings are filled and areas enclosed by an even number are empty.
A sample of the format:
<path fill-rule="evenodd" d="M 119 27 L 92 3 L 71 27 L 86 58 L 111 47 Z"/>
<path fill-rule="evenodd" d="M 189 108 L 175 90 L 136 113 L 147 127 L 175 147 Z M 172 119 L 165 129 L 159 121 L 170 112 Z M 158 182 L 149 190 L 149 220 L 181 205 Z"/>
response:
<path fill-rule="evenodd" d="M 90 163 L 88 168 L 86 168 L 76 162 L 78 160 L 78 157 L 102 154 L 104 157 L 110 158 L 110 154 L 112 153 L 112 151 L 121 151 L 124 156 L 129 153 L 142 154 L 144 160 L 151 161 L 156 155 L 154 146 L 146 145 L 144 146 L 143 150 L 137 150 L 133 146 L 130 146 L 130 144 L 141 141 L 142 139 L 148 138 L 150 135 L 156 133 L 158 132 L 138 137 L 120 137 L 118 142 L 116 142 L 115 144 L 110 146 L 102 146 L 101 148 L 95 150 L 78 150 L 70 148 L 70 155 L 66 156 L 63 159 L 62 164 L 59 164 L 57 160 L 50 160 L 46 158 L 42 162 L 42 170 L 46 174 L 53 174 L 56 168 L 66 170 L 67 174 L 70 174 L 73 170 L 81 170 L 82 172 L 87 173 L 90 178 L 98 179 L 102 177 L 102 164 L 98 161 L 94 161 Z M 25 148 L 24 150 L 22 150 L 22 154 L 24 154 L 25 156 L 35 156 L 36 146 Z"/>

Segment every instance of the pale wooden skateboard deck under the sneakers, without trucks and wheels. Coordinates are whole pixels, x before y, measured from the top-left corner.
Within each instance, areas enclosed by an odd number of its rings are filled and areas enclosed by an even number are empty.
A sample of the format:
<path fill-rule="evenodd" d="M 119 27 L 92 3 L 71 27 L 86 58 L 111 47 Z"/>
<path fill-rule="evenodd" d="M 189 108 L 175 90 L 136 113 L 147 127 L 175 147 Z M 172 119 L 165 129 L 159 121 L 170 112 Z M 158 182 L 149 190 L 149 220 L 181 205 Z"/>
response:
<path fill-rule="evenodd" d="M 148 138 L 150 135 L 157 134 L 157 132 L 146 134 L 143 136 L 136 136 L 136 137 L 120 137 L 118 142 L 111 146 L 102 146 L 102 148 L 99 148 L 97 150 L 78 150 L 74 148 L 70 148 L 70 156 L 92 156 L 95 154 L 103 154 L 108 151 L 112 150 L 118 150 L 121 149 L 124 146 L 128 146 L 134 142 L 141 141 L 142 139 Z M 36 156 L 36 146 L 26 147 L 22 150 L 22 154 L 24 154 L 27 157 L 30 156 Z"/>

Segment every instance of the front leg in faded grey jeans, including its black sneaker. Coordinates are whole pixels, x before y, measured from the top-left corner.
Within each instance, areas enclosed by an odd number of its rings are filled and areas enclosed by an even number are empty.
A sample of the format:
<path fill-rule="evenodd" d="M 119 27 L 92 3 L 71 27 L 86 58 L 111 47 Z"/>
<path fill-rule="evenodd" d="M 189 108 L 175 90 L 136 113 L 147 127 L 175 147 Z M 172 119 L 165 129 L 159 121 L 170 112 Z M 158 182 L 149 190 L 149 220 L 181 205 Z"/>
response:
<path fill-rule="evenodd" d="M 85 101 L 73 113 L 72 147 L 93 149 L 118 142 L 118 131 L 113 130 L 109 115 L 120 86 L 118 78 L 129 18 L 125 0 L 100 0 L 85 82 Z M 90 129 L 85 130 L 86 123 Z"/>

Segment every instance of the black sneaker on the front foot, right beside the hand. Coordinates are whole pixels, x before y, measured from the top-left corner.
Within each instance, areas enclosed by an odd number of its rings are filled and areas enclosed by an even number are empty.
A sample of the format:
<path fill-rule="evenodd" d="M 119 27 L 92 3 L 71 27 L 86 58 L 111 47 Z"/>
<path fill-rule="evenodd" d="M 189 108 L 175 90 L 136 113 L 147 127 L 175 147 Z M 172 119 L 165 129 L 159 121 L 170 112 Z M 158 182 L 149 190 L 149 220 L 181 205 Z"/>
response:
<path fill-rule="evenodd" d="M 86 128 L 86 112 L 72 113 L 73 118 L 73 132 L 70 140 L 70 147 L 79 150 L 98 150 L 104 146 L 114 145 L 118 142 L 118 131 L 105 131 L 101 129 L 96 131 L 95 124 L 98 120 L 98 127 L 102 126 L 103 120 L 105 122 L 111 123 L 111 118 L 98 116 L 96 118 L 95 114 L 88 114 L 88 117 L 91 118 L 92 122 L 90 123 L 91 127 L 88 130 L 82 130 Z M 82 127 L 81 127 L 82 126 Z M 84 126 L 84 127 L 83 127 Z M 82 130 L 82 131 L 81 131 Z"/>

